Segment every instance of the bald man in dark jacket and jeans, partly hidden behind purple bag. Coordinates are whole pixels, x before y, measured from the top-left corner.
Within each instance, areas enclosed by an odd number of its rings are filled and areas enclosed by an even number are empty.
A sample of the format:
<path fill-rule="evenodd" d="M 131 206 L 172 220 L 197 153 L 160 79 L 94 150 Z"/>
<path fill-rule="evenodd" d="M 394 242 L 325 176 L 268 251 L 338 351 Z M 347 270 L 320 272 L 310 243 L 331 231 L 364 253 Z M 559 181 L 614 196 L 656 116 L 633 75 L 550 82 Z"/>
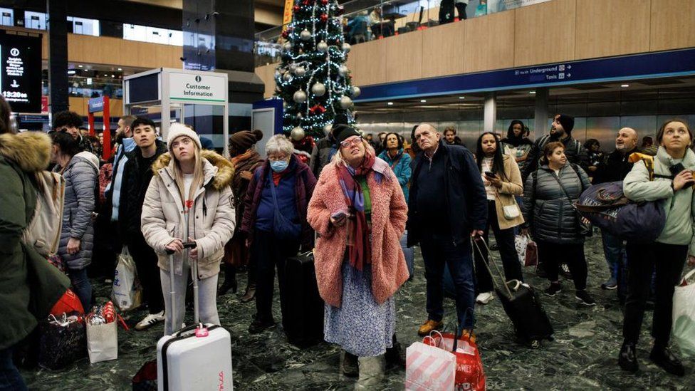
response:
<path fill-rule="evenodd" d="M 602 165 L 594 174 L 594 184 L 622 181 L 632 170 L 632 163 L 628 161 L 629 155 L 637 152 L 637 132 L 630 127 L 623 127 L 615 137 L 615 151 L 605 157 Z M 627 297 L 627 254 L 625 244 L 619 237 L 602 231 L 603 254 L 606 257 L 610 278 L 601 284 L 603 289 L 618 288 L 618 298 L 625 300 Z"/>

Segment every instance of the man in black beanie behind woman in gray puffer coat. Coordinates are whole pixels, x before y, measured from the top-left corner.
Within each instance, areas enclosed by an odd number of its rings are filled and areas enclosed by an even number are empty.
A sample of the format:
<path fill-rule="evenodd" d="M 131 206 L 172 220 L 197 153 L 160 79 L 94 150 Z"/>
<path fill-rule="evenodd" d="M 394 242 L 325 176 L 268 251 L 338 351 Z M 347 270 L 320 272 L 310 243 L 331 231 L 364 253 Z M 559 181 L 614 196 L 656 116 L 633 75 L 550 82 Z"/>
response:
<path fill-rule="evenodd" d="M 526 178 L 531 172 L 538 169 L 538 160 L 543 157 L 543 147 L 551 141 L 559 141 L 565 145 L 565 157 L 568 162 L 579 165 L 587 171 L 589 157 L 587 150 L 579 140 L 572 138 L 572 130 L 575 127 L 575 119 L 570 115 L 555 115 L 553 125 L 550 125 L 550 134 L 538 137 L 533 143 L 531 150 L 528 151 L 526 167 L 521 172 L 521 179 L 526 183 Z"/>

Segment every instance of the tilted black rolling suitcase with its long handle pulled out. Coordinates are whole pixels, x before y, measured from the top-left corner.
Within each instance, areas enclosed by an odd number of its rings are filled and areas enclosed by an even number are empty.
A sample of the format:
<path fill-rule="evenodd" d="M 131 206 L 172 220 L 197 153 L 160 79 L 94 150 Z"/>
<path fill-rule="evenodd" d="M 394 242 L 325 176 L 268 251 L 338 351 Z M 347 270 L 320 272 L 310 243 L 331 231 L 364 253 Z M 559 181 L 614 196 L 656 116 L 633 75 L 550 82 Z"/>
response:
<path fill-rule="evenodd" d="M 479 243 L 487 246 L 482 240 L 474 240 L 473 243 L 478 251 L 481 251 Z M 491 256 L 490 249 L 488 249 L 488 254 L 490 254 L 490 263 L 495 266 L 498 275 L 504 281 L 504 276 Z M 484 264 L 486 263 L 484 262 Z M 495 285 L 495 292 L 502 302 L 504 312 L 514 324 L 517 337 L 524 343 L 530 344 L 532 348 L 538 348 L 541 340 L 553 340 L 553 325 L 550 324 L 550 319 L 540 303 L 538 292 L 532 286 L 518 280 L 506 281 L 503 287 L 500 287 L 488 264 L 486 264 L 486 268 L 490 272 Z"/>

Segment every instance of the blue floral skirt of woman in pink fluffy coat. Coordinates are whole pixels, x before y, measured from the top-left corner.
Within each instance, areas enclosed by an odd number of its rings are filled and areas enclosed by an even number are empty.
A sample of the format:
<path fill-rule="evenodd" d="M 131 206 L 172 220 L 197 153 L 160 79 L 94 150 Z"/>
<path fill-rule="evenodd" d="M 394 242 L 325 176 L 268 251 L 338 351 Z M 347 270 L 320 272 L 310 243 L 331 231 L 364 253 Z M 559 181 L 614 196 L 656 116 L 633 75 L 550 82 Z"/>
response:
<path fill-rule="evenodd" d="M 395 331 L 394 299 L 377 304 L 372 295 L 371 265 L 357 271 L 344 262 L 343 303 L 340 308 L 325 305 L 325 340 L 358 357 L 373 357 L 392 347 Z"/>

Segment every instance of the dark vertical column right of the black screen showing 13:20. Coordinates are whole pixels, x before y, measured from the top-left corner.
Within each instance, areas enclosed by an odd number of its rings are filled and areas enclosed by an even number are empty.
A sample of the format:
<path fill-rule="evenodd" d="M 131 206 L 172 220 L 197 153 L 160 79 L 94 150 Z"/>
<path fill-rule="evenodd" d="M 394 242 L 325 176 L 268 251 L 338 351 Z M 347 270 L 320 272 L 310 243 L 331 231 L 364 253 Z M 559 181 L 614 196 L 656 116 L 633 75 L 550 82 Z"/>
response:
<path fill-rule="evenodd" d="M 68 14 L 66 1 L 46 0 L 48 14 L 48 107 L 68 110 Z"/>

